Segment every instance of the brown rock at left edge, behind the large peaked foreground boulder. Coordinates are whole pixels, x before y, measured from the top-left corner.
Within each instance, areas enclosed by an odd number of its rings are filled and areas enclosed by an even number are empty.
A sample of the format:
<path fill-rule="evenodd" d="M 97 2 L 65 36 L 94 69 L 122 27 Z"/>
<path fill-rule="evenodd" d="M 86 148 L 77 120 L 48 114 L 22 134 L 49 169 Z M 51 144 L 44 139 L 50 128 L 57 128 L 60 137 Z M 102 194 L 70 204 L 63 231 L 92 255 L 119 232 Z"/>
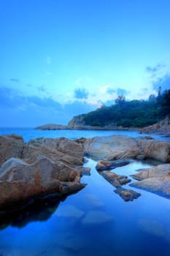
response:
<path fill-rule="evenodd" d="M 0 135 L 0 166 L 11 157 L 22 158 L 24 142 L 19 135 Z"/>

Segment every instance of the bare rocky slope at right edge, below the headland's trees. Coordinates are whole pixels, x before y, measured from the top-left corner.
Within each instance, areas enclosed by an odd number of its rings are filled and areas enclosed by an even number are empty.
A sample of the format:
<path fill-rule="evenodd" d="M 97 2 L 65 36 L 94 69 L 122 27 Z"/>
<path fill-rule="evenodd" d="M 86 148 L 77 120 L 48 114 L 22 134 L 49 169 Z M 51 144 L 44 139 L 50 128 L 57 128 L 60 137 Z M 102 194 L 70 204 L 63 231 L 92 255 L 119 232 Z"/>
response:
<path fill-rule="evenodd" d="M 144 133 L 155 133 L 159 135 L 170 135 L 170 118 L 166 117 L 157 124 L 152 124 L 149 127 L 140 129 L 140 132 Z"/>

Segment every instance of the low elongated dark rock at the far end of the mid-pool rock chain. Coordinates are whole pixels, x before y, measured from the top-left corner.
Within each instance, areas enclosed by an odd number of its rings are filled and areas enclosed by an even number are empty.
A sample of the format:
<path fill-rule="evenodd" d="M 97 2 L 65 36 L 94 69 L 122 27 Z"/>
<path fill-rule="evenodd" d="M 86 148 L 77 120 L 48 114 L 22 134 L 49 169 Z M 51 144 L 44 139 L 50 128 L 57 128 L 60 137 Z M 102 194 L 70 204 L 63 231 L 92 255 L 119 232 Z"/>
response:
<path fill-rule="evenodd" d="M 115 160 L 115 161 L 98 161 L 97 165 L 96 165 L 96 170 L 113 170 L 117 167 L 121 167 L 124 165 L 128 165 L 129 164 L 129 160 Z"/>

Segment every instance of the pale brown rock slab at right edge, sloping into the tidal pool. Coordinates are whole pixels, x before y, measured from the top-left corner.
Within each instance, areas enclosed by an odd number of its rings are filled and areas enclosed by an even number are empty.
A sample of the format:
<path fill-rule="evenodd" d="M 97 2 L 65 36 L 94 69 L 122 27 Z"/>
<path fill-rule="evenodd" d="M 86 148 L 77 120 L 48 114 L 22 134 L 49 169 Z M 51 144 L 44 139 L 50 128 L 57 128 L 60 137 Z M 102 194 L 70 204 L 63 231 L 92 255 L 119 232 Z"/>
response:
<path fill-rule="evenodd" d="M 138 181 L 131 186 L 170 198 L 170 164 L 140 170 L 133 177 Z"/>

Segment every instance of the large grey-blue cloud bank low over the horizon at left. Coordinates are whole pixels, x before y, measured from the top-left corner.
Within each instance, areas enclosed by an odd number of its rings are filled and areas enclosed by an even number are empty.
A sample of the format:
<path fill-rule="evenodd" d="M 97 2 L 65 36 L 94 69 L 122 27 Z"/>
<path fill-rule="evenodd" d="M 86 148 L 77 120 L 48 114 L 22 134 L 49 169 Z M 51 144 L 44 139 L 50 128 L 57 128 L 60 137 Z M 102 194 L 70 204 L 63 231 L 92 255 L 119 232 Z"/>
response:
<path fill-rule="evenodd" d="M 36 127 L 39 124 L 67 124 L 73 116 L 96 106 L 76 100 L 61 105 L 51 97 L 26 96 L 0 85 L 0 127 Z"/>

